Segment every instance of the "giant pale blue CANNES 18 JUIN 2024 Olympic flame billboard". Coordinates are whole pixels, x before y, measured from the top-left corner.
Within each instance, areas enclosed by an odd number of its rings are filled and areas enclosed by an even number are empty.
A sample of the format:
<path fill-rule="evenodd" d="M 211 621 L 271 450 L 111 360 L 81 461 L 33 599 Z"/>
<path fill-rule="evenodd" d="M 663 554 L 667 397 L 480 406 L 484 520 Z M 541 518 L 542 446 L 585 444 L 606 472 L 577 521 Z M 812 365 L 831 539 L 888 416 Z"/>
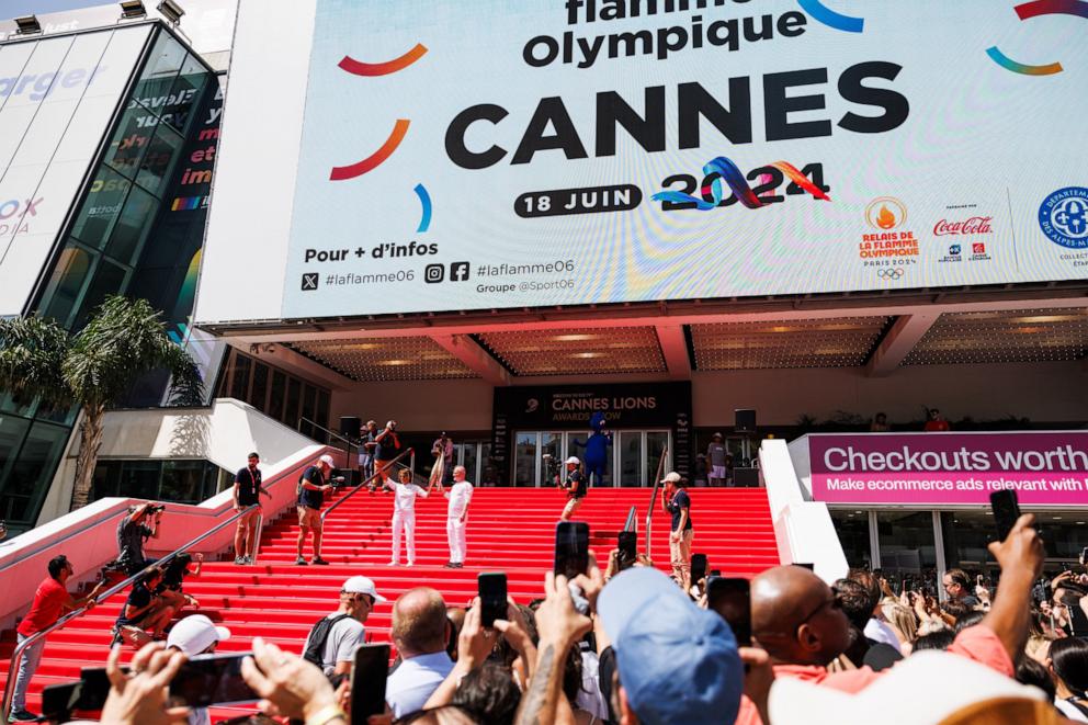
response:
<path fill-rule="evenodd" d="M 1084 277 L 1088 2 L 318 0 L 284 317 Z"/>

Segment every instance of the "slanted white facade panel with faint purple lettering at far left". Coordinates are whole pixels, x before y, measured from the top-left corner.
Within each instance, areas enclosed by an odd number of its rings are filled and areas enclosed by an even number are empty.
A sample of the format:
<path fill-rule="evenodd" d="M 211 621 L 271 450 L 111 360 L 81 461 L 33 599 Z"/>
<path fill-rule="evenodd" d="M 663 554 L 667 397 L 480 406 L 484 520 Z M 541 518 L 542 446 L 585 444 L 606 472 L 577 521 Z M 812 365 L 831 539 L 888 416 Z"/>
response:
<path fill-rule="evenodd" d="M 0 45 L 0 315 L 20 315 L 149 25 Z"/>

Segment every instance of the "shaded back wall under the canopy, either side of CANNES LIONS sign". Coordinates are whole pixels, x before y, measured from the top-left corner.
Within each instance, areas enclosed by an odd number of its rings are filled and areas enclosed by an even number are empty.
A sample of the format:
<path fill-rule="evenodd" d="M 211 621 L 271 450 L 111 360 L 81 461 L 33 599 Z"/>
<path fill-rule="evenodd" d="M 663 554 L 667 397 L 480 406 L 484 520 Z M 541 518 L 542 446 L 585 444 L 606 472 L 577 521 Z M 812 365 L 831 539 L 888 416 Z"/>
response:
<path fill-rule="evenodd" d="M 405 430 L 489 430 L 491 389 L 479 380 L 365 383 L 333 392 L 332 420 L 396 417 Z M 923 404 L 953 420 L 1015 415 L 1079 423 L 1088 420 L 1088 367 L 1080 362 L 911 365 L 885 377 L 869 377 L 860 367 L 696 372 L 692 397 L 699 427 L 732 426 L 735 408 L 755 408 L 761 426 L 792 426 L 802 414 L 824 420 L 836 410 L 865 417 L 883 410 L 892 422 L 920 420 Z"/>

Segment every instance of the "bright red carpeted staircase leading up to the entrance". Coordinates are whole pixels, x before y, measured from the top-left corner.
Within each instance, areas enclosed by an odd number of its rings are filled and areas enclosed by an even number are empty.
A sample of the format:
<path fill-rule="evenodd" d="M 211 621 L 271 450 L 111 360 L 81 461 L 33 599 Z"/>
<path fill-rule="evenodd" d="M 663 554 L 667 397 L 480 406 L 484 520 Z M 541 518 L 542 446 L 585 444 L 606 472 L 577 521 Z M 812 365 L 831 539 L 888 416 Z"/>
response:
<path fill-rule="evenodd" d="M 694 488 L 689 492 L 695 530 L 692 551 L 707 555 L 710 569 L 721 569 L 723 576 L 751 577 L 779 563 L 763 489 Z M 632 506 L 637 507 L 638 548 L 643 551 L 649 496 L 645 488 L 593 489 L 587 496 L 575 518 L 589 522 L 590 543 L 602 569 Z M 540 597 L 544 573 L 552 566 L 555 523 L 564 502 L 564 495 L 554 489 L 477 488 L 468 516 L 465 568 L 445 569 L 446 502 L 438 494 L 419 499 L 417 563 L 408 568 L 386 566 L 392 495 L 361 491 L 326 521 L 322 554 L 331 566 L 294 564 L 298 530 L 293 517 L 287 517 L 265 529 L 259 564 L 206 562 L 200 578 L 186 579 L 185 591 L 200 600 L 200 612 L 230 627 L 233 637 L 219 652 L 246 650 L 250 639 L 261 635 L 297 653 L 313 623 L 336 609 L 343 580 L 361 574 L 371 577 L 378 592 L 390 600 L 378 604 L 366 622 L 369 638 L 383 642 L 388 638 L 392 600 L 411 587 L 434 587 L 450 605 L 464 605 L 476 593 L 479 571 L 501 570 L 519 602 Z M 650 556 L 664 570 L 669 568 L 668 535 L 669 517 L 659 500 Z M 309 557 L 308 543 L 306 552 Z M 103 665 L 109 631 L 123 601 L 118 594 L 49 636 L 31 686 L 31 710 L 36 712 L 46 684 L 77 679 L 81 667 Z M 195 611 L 185 610 L 182 615 Z M 7 679 L 14 641 L 11 631 L 0 638 L 0 681 Z"/>

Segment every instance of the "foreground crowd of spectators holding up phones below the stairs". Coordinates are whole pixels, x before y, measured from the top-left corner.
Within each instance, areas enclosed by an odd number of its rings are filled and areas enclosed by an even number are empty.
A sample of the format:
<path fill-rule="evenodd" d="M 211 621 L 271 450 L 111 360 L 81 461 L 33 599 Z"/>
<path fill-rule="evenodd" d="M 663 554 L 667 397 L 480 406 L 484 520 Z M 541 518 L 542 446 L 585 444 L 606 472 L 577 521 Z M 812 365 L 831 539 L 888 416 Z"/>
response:
<path fill-rule="evenodd" d="M 751 580 L 750 647 L 707 607 L 706 580 L 685 592 L 645 557 L 621 564 L 616 552 L 603 573 L 591 557 L 570 581 L 547 574 L 539 599 L 510 599 L 492 626 L 479 600 L 460 608 L 417 587 L 392 603 L 387 710 L 367 723 L 783 725 L 887 720 L 887 707 L 902 723 L 1088 722 L 1088 632 L 1079 630 L 1088 577 L 1040 581 L 1043 545 L 1030 514 L 989 548 L 998 586 L 953 569 L 940 598 L 896 591 L 862 569 L 832 585 L 800 566 L 768 569 Z M 154 591 L 156 577 L 141 591 Z M 129 597 L 126 619 L 140 616 L 145 598 Z M 302 656 L 256 637 L 242 676 L 261 710 L 349 723 L 350 653 L 383 604 L 373 581 L 354 576 Z M 185 618 L 166 642 L 143 646 L 127 672 L 115 647 L 104 722 L 194 722 L 167 686 L 186 656 L 229 637 L 204 619 Z"/>

